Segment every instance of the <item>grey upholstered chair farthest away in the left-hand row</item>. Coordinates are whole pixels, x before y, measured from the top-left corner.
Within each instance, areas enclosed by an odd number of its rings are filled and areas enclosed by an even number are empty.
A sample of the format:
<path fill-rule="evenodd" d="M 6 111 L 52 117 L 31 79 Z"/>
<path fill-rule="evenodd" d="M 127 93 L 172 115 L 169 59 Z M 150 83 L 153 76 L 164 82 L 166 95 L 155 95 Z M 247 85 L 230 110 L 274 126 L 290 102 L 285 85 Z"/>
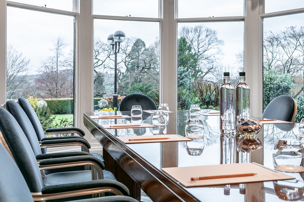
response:
<path fill-rule="evenodd" d="M 32 123 L 35 133 L 37 135 L 38 141 L 43 141 L 43 140 L 47 140 L 44 141 L 44 144 L 48 144 L 49 147 L 51 147 L 51 145 L 53 144 L 57 144 L 60 141 L 62 143 L 72 143 L 73 141 L 76 142 L 81 142 L 84 143 L 83 140 L 85 140 L 84 138 L 81 138 L 85 135 L 85 133 L 83 132 L 83 130 L 79 129 L 79 128 L 75 128 L 75 127 L 69 127 L 69 128 L 52 128 L 52 129 L 47 129 L 46 132 L 43 131 L 43 128 L 41 126 L 41 123 L 38 119 L 38 116 L 35 112 L 35 110 L 33 109 L 33 107 L 30 105 L 30 103 L 23 97 L 19 97 L 16 102 L 21 106 L 21 108 L 24 110 L 24 112 L 26 113 L 26 115 L 28 116 L 30 122 Z M 5 107 L 6 104 L 5 104 Z M 60 134 L 60 133 L 77 133 L 79 136 L 66 136 L 66 137 L 49 137 L 46 138 L 45 135 L 48 134 Z M 81 140 L 82 139 L 82 140 Z M 54 140 L 54 141 L 53 141 Z M 88 149 L 91 148 L 90 144 L 87 142 L 86 143 Z M 44 148 L 42 148 L 42 153 L 47 153 L 47 146 L 44 146 Z M 88 151 L 88 149 L 84 149 L 84 147 L 81 148 L 82 151 Z M 93 156 L 99 158 L 103 163 L 105 163 L 105 160 L 103 159 L 102 155 L 99 153 L 91 153 Z"/>

